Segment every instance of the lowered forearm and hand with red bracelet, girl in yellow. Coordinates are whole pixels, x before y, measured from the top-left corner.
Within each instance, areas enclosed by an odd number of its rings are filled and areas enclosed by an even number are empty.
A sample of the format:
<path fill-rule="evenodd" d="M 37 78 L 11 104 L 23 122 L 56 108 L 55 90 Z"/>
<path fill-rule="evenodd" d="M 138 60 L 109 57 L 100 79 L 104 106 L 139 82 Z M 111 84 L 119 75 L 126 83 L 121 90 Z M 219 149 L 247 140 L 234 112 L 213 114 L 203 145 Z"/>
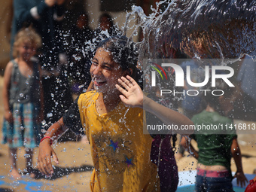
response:
<path fill-rule="evenodd" d="M 53 157 L 53 161 L 55 163 L 59 163 L 58 157 L 53 151 L 51 144 L 54 140 L 58 139 L 59 136 L 64 133 L 62 130 L 64 127 L 64 123 L 62 118 L 60 118 L 56 123 L 54 123 L 45 133 L 44 138 L 41 139 L 39 145 L 39 154 L 38 154 L 38 169 L 40 172 L 44 173 L 44 175 L 51 176 L 53 174 L 53 166 L 51 163 L 51 157 Z"/>

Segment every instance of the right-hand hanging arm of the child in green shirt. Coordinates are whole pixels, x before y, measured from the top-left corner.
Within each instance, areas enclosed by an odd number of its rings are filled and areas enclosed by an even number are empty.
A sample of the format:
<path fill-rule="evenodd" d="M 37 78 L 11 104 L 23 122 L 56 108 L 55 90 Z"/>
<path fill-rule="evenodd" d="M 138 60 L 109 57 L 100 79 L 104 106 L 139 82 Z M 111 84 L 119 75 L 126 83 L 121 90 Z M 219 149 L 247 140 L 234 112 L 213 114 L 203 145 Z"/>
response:
<path fill-rule="evenodd" d="M 236 138 L 234 138 L 232 141 L 231 154 L 236 163 L 236 174 L 234 177 L 236 178 L 237 185 L 240 184 L 241 187 L 245 187 L 245 181 L 248 182 L 248 180 L 245 177 L 244 172 L 242 171 L 242 156 Z"/>

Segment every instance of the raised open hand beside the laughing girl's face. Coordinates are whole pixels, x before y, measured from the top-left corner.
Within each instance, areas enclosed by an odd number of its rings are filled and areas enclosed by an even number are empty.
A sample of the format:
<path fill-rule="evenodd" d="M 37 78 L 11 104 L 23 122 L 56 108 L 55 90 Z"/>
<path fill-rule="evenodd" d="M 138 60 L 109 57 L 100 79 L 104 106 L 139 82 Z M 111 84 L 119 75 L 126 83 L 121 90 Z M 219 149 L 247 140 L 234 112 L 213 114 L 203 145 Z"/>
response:
<path fill-rule="evenodd" d="M 118 79 L 118 82 L 122 86 L 120 87 L 118 84 L 116 84 L 117 90 L 123 94 L 120 95 L 122 102 L 131 107 L 143 108 L 144 94 L 136 81 L 127 75 L 126 78 L 122 77 Z"/>

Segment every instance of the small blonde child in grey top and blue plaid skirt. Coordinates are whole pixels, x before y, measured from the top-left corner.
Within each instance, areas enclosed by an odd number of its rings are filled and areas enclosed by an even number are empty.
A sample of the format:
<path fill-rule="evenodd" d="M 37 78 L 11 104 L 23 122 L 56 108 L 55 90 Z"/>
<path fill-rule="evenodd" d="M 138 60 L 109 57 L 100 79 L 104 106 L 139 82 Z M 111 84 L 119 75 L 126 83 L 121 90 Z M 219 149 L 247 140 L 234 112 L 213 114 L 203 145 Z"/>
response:
<path fill-rule="evenodd" d="M 32 61 L 41 46 L 41 37 L 31 28 L 21 29 L 14 41 L 14 58 L 8 62 L 3 86 L 3 143 L 9 145 L 10 175 L 19 179 L 17 148 L 26 148 L 26 172 L 34 177 L 33 148 L 37 145 L 44 107 L 41 89 L 41 68 Z"/>

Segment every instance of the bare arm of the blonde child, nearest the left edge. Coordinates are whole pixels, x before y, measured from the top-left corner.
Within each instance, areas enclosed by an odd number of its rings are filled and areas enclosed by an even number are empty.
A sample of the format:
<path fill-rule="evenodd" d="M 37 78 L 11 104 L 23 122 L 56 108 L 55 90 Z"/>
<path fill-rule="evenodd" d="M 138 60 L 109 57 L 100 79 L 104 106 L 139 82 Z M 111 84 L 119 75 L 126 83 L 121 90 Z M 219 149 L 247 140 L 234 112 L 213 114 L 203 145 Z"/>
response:
<path fill-rule="evenodd" d="M 5 120 L 9 123 L 13 122 L 13 114 L 10 110 L 10 86 L 11 86 L 11 72 L 13 70 L 13 62 L 8 62 L 5 68 L 5 75 L 4 75 L 4 85 L 3 85 L 3 102 L 4 102 L 4 110 L 5 110 Z"/>

